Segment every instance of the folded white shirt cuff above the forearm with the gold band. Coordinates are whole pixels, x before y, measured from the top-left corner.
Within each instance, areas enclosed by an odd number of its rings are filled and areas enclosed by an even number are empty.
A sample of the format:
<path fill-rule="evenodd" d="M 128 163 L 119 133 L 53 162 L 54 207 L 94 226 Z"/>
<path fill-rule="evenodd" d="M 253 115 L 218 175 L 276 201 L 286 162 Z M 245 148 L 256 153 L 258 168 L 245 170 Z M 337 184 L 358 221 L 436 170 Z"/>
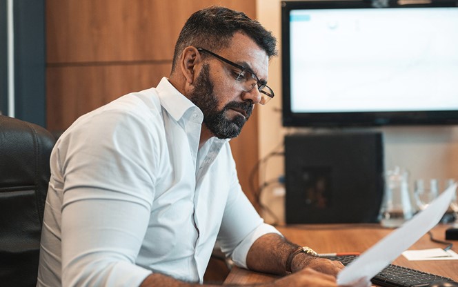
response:
<path fill-rule="evenodd" d="M 246 266 L 246 256 L 248 255 L 248 251 L 259 237 L 268 233 L 277 233 L 283 237 L 277 228 L 265 223 L 259 225 L 234 249 L 234 252 L 232 253 L 232 261 L 234 261 L 235 265 L 248 269 L 248 266 Z"/>

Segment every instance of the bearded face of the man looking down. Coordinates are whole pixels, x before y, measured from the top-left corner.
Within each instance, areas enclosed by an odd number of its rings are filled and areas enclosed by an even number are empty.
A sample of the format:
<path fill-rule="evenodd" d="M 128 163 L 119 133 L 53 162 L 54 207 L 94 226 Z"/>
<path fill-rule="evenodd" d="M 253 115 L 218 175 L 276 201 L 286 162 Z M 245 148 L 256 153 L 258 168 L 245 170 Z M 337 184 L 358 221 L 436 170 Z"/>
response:
<path fill-rule="evenodd" d="M 219 55 L 249 68 L 259 79 L 266 79 L 266 52 L 241 33 L 236 33 L 231 43 Z M 206 128 L 219 139 L 237 137 L 252 114 L 255 103 L 260 100 L 257 87 L 243 91 L 234 74 L 233 67 L 214 57 L 206 57 L 189 95 L 190 100 L 203 112 Z"/>

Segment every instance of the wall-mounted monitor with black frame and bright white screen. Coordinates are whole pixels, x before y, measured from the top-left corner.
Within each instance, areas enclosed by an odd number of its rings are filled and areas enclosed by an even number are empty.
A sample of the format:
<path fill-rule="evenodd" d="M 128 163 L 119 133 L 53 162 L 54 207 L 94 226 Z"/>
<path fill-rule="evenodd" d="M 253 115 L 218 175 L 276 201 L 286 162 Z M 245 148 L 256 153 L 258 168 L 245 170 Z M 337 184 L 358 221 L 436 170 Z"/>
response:
<path fill-rule="evenodd" d="M 458 123 L 456 1 L 285 1 L 282 46 L 284 126 Z"/>

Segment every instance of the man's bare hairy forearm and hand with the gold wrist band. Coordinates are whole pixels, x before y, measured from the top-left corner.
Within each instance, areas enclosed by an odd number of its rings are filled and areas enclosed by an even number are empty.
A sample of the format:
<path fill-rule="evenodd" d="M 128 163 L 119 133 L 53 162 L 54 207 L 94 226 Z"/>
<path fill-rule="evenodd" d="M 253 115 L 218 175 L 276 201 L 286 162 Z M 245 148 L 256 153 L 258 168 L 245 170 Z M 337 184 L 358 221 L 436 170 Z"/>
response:
<path fill-rule="evenodd" d="M 250 270 L 285 275 L 287 274 L 286 261 L 288 256 L 298 247 L 280 235 L 268 233 L 259 237 L 251 246 L 246 257 L 246 264 Z M 344 268 L 344 265 L 339 261 L 331 261 L 305 253 L 299 253 L 292 259 L 291 270 L 293 273 L 306 267 L 335 277 Z"/>

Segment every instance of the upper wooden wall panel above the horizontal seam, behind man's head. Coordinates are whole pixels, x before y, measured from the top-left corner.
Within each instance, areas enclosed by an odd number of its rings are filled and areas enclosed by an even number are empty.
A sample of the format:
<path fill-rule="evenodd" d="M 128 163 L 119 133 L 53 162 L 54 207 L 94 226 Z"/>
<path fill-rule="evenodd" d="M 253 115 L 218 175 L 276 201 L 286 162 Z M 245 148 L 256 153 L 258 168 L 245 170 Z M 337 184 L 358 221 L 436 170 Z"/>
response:
<path fill-rule="evenodd" d="M 254 0 L 48 0 L 48 63 L 171 60 L 186 19 L 215 3 L 255 16 Z"/>

